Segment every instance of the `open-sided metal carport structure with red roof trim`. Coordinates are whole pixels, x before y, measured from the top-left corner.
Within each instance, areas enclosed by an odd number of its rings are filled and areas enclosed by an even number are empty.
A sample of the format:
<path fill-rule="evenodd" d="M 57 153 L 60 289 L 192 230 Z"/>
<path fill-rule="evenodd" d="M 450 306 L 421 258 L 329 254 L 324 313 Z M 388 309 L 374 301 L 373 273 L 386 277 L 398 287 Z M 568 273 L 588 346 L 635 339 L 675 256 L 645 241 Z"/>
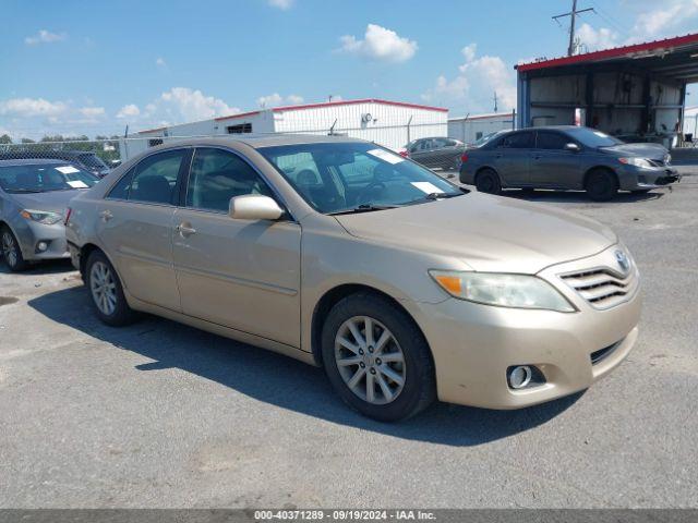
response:
<path fill-rule="evenodd" d="M 686 85 L 698 82 L 698 34 L 516 65 L 519 127 L 581 124 L 671 145 Z"/>

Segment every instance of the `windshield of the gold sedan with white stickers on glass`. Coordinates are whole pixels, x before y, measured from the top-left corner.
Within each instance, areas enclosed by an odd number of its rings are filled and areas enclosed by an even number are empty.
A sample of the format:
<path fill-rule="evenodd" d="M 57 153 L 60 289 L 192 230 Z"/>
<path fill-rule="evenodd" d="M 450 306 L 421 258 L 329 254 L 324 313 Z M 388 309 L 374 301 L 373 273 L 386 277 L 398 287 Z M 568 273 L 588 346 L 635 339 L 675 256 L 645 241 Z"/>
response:
<path fill-rule="evenodd" d="M 363 142 L 257 149 L 323 214 L 381 210 L 464 194 L 428 169 Z"/>

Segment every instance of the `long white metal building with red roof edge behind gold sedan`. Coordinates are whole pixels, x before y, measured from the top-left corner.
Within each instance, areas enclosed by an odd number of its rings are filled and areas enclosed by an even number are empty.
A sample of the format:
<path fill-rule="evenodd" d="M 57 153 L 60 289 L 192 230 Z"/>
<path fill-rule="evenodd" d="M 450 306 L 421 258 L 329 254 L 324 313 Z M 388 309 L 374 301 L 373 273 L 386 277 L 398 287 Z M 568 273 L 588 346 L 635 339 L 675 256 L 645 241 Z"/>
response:
<path fill-rule="evenodd" d="M 400 149 L 414 138 L 446 136 L 448 109 L 374 98 L 274 107 L 141 131 L 123 139 L 123 160 L 182 136 L 221 134 L 340 134 Z"/>

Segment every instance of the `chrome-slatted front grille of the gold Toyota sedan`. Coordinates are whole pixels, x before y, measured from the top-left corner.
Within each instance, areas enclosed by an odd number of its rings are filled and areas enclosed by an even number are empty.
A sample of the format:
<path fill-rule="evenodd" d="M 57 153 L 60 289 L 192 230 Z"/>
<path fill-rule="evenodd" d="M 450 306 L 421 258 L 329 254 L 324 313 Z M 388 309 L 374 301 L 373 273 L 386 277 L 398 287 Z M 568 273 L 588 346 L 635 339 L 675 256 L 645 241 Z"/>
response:
<path fill-rule="evenodd" d="M 637 288 L 635 271 L 622 276 L 609 268 L 589 269 L 559 276 L 594 308 L 614 307 L 633 295 Z"/>

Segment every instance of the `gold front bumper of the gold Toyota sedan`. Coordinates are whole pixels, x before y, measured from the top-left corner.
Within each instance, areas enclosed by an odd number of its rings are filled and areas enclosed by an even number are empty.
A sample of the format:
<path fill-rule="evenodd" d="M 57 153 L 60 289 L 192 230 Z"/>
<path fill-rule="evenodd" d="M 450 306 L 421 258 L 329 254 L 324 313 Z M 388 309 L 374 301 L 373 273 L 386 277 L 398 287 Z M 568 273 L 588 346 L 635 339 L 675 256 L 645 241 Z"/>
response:
<path fill-rule="evenodd" d="M 545 269 L 539 276 L 552 282 L 573 266 L 593 267 L 589 264 L 598 262 L 585 259 Z M 564 289 L 564 283 L 555 282 L 555 287 L 578 312 L 503 308 L 456 299 L 420 304 L 422 321 L 418 323 L 432 349 L 440 400 L 519 409 L 587 389 L 616 367 L 637 339 L 639 290 L 635 288 L 626 301 L 611 308 L 598 309 L 573 289 Z M 604 357 L 592 364 L 603 349 L 607 349 Z M 506 372 L 516 365 L 535 366 L 545 382 L 509 388 Z"/>

